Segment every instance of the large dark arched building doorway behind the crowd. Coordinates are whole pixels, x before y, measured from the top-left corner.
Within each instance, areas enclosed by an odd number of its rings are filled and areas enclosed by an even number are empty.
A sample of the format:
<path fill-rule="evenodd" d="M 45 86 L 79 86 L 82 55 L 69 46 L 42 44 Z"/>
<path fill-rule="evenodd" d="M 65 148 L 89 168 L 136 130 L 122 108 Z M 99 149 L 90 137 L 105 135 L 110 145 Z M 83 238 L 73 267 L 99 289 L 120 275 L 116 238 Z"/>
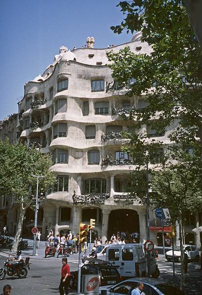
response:
<path fill-rule="evenodd" d="M 131 235 L 134 232 L 139 234 L 139 216 L 132 209 L 117 209 L 109 214 L 108 238 L 117 232 L 125 232 Z"/>

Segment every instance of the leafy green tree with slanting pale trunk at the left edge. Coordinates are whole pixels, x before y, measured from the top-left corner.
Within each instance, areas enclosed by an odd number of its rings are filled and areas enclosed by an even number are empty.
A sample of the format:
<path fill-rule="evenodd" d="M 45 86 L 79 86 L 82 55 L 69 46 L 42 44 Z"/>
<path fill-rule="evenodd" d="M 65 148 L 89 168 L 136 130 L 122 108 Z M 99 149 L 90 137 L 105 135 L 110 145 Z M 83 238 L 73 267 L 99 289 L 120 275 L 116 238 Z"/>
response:
<path fill-rule="evenodd" d="M 0 141 L 0 195 L 13 196 L 14 203 L 20 207 L 12 251 L 17 250 L 26 209 L 34 206 L 36 178 L 32 175 L 45 176 L 39 180 L 39 187 L 40 191 L 46 191 L 56 180 L 51 166 L 52 161 L 48 154 L 22 144 L 11 145 L 8 140 Z"/>

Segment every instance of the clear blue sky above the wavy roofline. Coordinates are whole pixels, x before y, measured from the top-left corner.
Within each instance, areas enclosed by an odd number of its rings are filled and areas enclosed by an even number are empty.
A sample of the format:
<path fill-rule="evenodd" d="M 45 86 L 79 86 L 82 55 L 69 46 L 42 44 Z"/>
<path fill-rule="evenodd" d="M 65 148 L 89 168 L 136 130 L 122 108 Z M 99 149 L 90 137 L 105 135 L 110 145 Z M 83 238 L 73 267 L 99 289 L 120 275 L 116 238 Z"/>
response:
<path fill-rule="evenodd" d="M 132 34 L 118 35 L 123 14 L 119 0 L 0 1 L 0 119 L 17 112 L 24 84 L 42 74 L 59 47 L 70 50 L 95 38 L 95 48 L 121 44 Z"/>

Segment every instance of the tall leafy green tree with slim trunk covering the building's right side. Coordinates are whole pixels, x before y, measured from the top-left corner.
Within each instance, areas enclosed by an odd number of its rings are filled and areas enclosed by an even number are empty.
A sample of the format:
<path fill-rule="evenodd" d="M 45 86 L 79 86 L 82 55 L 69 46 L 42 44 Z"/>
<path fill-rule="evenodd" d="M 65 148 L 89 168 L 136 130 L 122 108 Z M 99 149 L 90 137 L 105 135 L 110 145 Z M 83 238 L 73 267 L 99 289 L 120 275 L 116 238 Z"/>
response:
<path fill-rule="evenodd" d="M 157 167 L 159 173 L 154 173 L 155 169 L 150 171 L 153 185 L 155 183 L 158 190 L 152 202 L 158 203 L 158 196 L 164 199 L 165 206 L 171 208 L 173 218 L 181 222 L 184 203 L 187 203 L 188 210 L 194 211 L 199 209 L 201 202 L 198 174 L 201 171 L 199 156 L 202 153 L 201 49 L 182 0 L 121 1 L 117 6 L 121 7 L 126 17 L 120 25 L 111 29 L 115 33 L 121 33 L 123 29 L 132 33 L 141 30 L 141 41 L 147 42 L 151 48 L 150 54 L 135 54 L 129 47 L 118 53 L 111 51 L 107 54 L 111 61 L 108 66 L 116 83 L 128 89 L 128 95 L 144 98 L 148 104 L 143 110 L 133 107 L 127 114 L 122 112 L 122 117 L 134 120 L 139 129 L 152 124 L 154 129 L 161 132 L 171 126 L 172 131 L 168 136 L 171 146 L 166 160 L 161 167 Z M 130 83 L 132 78 L 135 81 L 133 84 Z M 128 145 L 132 153 L 143 150 L 141 138 L 139 142 L 138 134 L 136 137 L 136 142 L 132 136 Z M 156 141 L 156 144 L 160 142 Z M 190 147 L 197 154 L 191 159 L 186 153 Z M 147 148 L 147 157 L 150 155 Z M 145 154 L 143 158 L 146 159 Z M 141 184 L 145 182 L 145 166 L 140 165 L 138 170 L 142 170 L 141 177 L 136 170 L 132 173 L 134 196 L 137 195 L 136 191 L 141 192 Z M 194 172 L 197 173 L 196 178 Z M 181 177 L 177 177 L 177 174 L 181 174 Z M 175 188 L 171 195 L 169 187 L 165 187 L 166 177 Z M 181 236 L 180 244 L 183 260 Z M 181 289 L 184 288 L 183 269 L 182 261 Z"/>

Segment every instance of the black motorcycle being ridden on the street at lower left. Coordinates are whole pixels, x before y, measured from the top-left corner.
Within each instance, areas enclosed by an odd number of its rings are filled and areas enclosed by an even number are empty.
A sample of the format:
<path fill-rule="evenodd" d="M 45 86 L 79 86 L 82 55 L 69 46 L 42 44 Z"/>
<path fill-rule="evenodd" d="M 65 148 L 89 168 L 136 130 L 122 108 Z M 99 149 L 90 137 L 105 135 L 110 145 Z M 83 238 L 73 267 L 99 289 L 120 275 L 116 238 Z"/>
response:
<path fill-rule="evenodd" d="M 9 276 L 14 276 L 15 273 L 17 273 L 15 276 L 18 276 L 20 279 L 26 278 L 28 275 L 27 268 L 30 269 L 30 257 L 27 257 L 24 260 L 22 260 L 20 263 L 15 265 L 15 270 L 13 269 L 13 264 L 12 260 L 7 258 L 6 261 L 4 262 L 4 267 L 0 268 L 0 280 L 3 280 L 6 273 Z"/>

